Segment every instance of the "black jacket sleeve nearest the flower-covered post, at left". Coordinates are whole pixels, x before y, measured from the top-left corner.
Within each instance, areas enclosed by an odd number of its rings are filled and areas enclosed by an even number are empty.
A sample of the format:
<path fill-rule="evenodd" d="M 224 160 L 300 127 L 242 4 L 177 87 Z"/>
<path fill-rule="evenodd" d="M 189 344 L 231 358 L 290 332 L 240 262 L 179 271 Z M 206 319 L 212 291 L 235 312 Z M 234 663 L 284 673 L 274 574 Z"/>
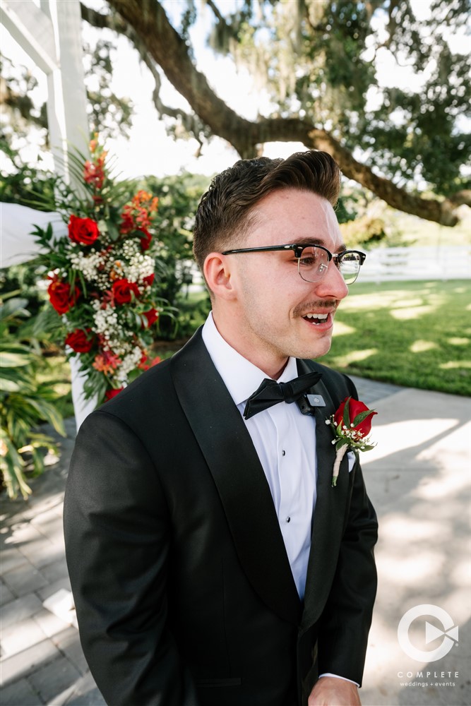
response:
<path fill-rule="evenodd" d="M 113 706 L 197 706 L 167 624 L 170 521 L 136 433 L 94 412 L 64 500 L 66 558 L 85 659 Z"/>

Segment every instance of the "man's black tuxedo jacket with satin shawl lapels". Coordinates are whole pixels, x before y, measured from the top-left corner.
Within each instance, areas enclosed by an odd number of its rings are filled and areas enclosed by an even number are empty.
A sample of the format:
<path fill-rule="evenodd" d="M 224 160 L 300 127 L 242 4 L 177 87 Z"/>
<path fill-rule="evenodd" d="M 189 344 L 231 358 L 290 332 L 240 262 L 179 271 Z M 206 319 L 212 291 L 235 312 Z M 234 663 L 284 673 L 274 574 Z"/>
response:
<path fill-rule="evenodd" d="M 361 683 L 376 516 L 358 464 L 331 487 L 325 420 L 355 390 L 311 361 L 317 501 L 304 603 L 244 421 L 198 331 L 85 420 L 66 556 L 85 657 L 112 706 L 299 706 L 318 674 Z"/>

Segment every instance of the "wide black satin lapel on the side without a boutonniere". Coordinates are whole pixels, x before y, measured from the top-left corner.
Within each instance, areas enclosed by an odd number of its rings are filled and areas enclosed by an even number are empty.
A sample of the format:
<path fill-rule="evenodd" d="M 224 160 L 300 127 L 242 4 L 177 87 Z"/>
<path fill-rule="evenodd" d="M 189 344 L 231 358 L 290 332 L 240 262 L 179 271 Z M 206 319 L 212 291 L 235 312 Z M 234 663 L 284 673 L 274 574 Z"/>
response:
<path fill-rule="evenodd" d="M 247 578 L 280 618 L 299 624 L 301 602 L 270 488 L 201 330 L 174 355 L 171 371 L 181 407 L 213 475 Z"/>

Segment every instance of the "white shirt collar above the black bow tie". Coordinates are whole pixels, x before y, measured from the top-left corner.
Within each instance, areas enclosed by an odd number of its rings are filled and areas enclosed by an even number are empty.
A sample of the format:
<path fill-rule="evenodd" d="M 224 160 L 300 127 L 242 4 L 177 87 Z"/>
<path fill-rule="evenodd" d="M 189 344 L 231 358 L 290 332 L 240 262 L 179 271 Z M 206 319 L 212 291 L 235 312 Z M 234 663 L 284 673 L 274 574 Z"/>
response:
<path fill-rule="evenodd" d="M 242 404 L 268 375 L 229 346 L 217 330 L 211 311 L 203 326 L 202 335 L 205 347 L 229 390 L 229 395 L 236 405 Z M 288 382 L 296 378 L 297 374 L 296 359 L 290 357 L 278 382 Z"/>

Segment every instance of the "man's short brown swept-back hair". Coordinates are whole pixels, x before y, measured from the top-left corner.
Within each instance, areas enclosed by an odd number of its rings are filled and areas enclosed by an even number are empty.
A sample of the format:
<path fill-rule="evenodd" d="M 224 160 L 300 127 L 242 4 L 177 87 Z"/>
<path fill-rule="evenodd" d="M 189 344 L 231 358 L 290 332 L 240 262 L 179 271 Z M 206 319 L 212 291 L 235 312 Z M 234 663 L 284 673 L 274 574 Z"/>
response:
<path fill-rule="evenodd" d="M 232 249 L 251 226 L 254 205 L 273 191 L 297 189 L 323 196 L 333 206 L 340 169 L 327 152 L 296 152 L 286 160 L 239 160 L 213 179 L 196 211 L 193 253 L 203 270 L 206 256 Z"/>

